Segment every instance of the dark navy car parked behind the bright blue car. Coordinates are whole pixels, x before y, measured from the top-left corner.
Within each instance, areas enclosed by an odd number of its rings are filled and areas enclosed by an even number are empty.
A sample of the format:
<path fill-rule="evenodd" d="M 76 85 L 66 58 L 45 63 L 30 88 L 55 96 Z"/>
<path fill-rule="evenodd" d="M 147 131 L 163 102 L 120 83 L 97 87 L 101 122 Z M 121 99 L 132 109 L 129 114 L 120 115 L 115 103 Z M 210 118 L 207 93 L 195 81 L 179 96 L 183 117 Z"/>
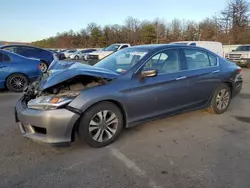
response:
<path fill-rule="evenodd" d="M 17 53 L 25 57 L 40 59 L 41 60 L 40 68 L 41 71 L 43 72 L 45 72 L 48 69 L 50 63 L 54 59 L 57 59 L 57 57 L 52 52 L 33 46 L 11 44 L 11 45 L 1 46 L 0 49 L 8 50 L 10 52 Z"/>

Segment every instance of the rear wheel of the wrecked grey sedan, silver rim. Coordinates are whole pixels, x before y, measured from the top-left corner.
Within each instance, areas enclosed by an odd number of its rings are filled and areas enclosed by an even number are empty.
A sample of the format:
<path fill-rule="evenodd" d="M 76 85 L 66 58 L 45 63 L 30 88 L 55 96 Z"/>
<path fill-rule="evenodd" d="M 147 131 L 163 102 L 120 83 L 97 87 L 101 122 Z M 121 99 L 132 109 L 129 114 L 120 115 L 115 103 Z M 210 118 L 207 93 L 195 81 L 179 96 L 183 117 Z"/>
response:
<path fill-rule="evenodd" d="M 221 84 L 214 92 L 208 111 L 213 114 L 222 114 L 227 111 L 231 101 L 231 90 L 226 84 Z"/>

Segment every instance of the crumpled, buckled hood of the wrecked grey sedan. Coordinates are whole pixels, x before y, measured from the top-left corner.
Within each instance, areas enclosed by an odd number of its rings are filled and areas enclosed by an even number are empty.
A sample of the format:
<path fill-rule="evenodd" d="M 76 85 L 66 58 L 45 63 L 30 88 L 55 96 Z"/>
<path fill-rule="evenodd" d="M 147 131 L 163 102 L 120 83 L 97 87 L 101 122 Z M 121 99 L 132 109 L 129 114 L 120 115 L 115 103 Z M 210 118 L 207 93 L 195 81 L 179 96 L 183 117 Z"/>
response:
<path fill-rule="evenodd" d="M 41 90 L 80 75 L 106 79 L 114 79 L 119 75 L 118 73 L 108 69 L 70 61 L 53 61 L 48 69 L 48 72 L 49 77 L 40 82 Z"/>

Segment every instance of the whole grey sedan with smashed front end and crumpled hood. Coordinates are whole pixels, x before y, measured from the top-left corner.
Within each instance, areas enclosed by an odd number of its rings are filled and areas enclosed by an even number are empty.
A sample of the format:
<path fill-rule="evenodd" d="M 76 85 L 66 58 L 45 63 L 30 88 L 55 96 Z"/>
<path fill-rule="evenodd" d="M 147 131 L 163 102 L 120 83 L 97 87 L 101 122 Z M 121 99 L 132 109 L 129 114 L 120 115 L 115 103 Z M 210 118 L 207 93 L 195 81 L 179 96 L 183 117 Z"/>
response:
<path fill-rule="evenodd" d="M 75 132 L 92 147 L 115 141 L 123 128 L 189 110 L 224 113 L 241 91 L 241 68 L 204 48 L 142 45 L 94 66 L 54 61 L 49 76 L 16 104 L 25 137 L 70 143 Z"/>

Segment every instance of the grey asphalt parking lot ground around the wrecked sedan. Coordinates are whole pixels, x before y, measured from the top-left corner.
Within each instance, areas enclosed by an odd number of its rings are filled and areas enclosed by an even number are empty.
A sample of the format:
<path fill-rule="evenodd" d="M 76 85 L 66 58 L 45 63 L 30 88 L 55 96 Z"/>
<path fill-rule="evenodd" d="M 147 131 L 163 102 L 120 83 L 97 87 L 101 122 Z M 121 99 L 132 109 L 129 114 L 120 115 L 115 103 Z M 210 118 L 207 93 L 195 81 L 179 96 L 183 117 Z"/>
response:
<path fill-rule="evenodd" d="M 125 130 L 100 149 L 54 148 L 22 137 L 0 93 L 0 187 L 250 187 L 250 70 L 228 111 L 189 112 Z"/>

